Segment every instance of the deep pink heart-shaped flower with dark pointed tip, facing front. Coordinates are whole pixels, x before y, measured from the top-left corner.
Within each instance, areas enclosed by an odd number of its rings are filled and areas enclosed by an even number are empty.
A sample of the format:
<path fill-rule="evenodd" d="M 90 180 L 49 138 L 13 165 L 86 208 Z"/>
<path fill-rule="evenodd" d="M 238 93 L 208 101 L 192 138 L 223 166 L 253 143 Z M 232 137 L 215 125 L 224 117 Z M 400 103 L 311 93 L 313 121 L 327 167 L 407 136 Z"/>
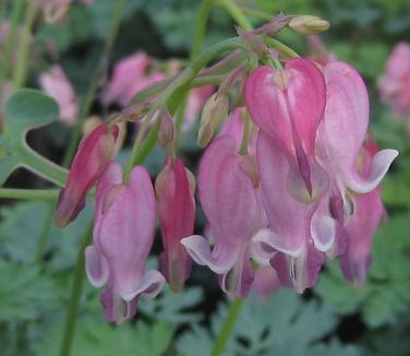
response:
<path fill-rule="evenodd" d="M 304 202 L 317 200 L 328 187 L 314 152 L 326 99 L 321 71 L 308 59 L 291 59 L 284 70 L 261 67 L 248 79 L 244 97 L 254 122 L 290 162 L 289 192 Z"/>

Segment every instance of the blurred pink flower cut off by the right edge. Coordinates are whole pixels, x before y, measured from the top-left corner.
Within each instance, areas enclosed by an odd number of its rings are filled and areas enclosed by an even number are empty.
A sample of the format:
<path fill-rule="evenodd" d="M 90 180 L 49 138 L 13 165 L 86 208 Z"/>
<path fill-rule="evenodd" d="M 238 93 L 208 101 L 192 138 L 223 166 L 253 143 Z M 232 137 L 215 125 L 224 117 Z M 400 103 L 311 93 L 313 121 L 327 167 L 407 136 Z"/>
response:
<path fill-rule="evenodd" d="M 410 45 L 399 43 L 386 62 L 378 83 L 379 96 L 398 117 L 410 112 Z"/>

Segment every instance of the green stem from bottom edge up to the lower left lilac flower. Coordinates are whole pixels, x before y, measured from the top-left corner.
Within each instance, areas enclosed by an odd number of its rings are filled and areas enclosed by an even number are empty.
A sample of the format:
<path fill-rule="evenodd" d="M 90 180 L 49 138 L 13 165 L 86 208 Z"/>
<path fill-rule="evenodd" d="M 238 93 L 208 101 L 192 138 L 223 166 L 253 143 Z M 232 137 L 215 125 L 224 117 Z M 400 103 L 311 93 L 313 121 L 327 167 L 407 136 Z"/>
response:
<path fill-rule="evenodd" d="M 81 246 L 79 249 L 77 258 L 76 258 L 76 264 L 75 264 L 75 271 L 74 271 L 74 280 L 71 287 L 71 294 L 70 294 L 70 304 L 69 304 L 69 312 L 65 320 L 65 327 L 64 327 L 64 334 L 60 347 L 60 355 L 61 356 L 69 356 L 71 354 L 71 347 L 73 344 L 74 339 L 74 331 L 75 331 L 75 324 L 76 319 L 79 315 L 80 309 L 80 299 L 81 299 L 81 293 L 83 290 L 83 282 L 84 282 L 84 265 L 85 265 L 85 257 L 84 257 L 84 250 L 85 248 L 91 244 L 92 241 L 92 233 L 93 233 L 93 222 L 89 223 L 82 240 Z"/>

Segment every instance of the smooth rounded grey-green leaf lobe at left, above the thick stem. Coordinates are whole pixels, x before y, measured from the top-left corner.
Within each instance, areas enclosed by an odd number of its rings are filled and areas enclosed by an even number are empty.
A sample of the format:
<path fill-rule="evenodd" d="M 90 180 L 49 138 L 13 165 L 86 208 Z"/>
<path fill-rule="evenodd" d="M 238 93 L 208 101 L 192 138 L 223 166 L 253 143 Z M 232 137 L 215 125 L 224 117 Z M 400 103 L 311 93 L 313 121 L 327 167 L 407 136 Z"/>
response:
<path fill-rule="evenodd" d="M 59 107 L 53 98 L 35 90 L 17 91 L 5 106 L 11 142 L 20 143 L 28 130 L 49 124 L 58 116 Z"/>

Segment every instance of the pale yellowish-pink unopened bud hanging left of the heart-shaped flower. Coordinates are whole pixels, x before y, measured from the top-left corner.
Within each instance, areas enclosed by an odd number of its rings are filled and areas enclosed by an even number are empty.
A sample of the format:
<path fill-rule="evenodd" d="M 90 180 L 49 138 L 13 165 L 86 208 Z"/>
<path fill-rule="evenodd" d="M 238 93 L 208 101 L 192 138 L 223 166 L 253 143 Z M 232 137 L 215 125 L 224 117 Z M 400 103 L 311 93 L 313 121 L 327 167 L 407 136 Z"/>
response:
<path fill-rule="evenodd" d="M 197 133 L 197 145 L 205 147 L 213 139 L 216 129 L 228 117 L 228 96 L 215 93 L 206 102 L 202 115 L 200 131 Z"/>

